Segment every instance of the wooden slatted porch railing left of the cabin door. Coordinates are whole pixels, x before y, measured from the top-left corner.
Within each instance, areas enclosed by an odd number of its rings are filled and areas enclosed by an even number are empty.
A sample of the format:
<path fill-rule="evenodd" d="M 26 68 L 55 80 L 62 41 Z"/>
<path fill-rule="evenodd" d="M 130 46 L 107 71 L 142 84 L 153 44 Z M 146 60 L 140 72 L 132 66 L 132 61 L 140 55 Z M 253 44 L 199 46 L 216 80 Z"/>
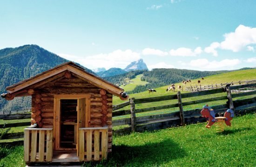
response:
<path fill-rule="evenodd" d="M 38 135 L 39 134 L 39 135 Z M 45 138 L 46 135 L 46 138 Z M 38 137 L 39 136 L 39 137 Z M 45 152 L 46 148 L 46 152 Z M 24 161 L 50 162 L 53 157 L 53 129 L 24 129 Z"/>

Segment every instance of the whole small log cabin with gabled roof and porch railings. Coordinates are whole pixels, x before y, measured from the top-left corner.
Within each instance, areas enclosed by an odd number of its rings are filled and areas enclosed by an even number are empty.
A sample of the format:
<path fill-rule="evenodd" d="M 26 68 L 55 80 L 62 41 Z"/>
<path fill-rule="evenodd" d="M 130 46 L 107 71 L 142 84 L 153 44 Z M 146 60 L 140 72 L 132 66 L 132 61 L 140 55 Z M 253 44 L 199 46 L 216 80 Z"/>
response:
<path fill-rule="evenodd" d="M 15 83 L 1 96 L 32 96 L 31 124 L 24 129 L 24 160 L 79 162 L 107 159 L 112 148 L 112 97 L 124 90 L 73 62 Z"/>

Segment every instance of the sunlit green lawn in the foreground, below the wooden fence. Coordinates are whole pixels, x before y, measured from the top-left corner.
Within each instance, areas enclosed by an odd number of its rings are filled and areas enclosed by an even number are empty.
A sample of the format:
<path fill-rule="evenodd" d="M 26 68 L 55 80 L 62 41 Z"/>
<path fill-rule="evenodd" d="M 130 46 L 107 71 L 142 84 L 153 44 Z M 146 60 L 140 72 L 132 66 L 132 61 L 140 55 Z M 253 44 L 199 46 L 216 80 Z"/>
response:
<path fill-rule="evenodd" d="M 232 126 L 216 133 L 205 123 L 153 132 L 114 135 L 112 153 L 96 167 L 254 167 L 256 114 L 235 117 Z M 4 148 L 5 149 L 5 148 Z M 8 148 L 0 167 L 24 167 L 23 147 Z"/>

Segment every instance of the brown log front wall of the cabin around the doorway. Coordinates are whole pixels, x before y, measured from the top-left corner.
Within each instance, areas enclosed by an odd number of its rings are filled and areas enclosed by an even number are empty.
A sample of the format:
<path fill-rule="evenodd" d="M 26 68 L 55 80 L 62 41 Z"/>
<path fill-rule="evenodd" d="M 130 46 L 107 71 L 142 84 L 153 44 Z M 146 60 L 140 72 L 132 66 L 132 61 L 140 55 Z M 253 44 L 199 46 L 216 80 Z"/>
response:
<path fill-rule="evenodd" d="M 112 97 L 106 92 L 103 96 L 102 90 L 94 85 L 76 77 L 62 78 L 47 87 L 38 90 L 32 96 L 32 120 L 35 123 L 35 116 L 40 116 L 42 128 L 53 128 L 54 125 L 54 94 L 90 94 L 91 122 L 90 127 L 102 127 L 102 118 L 108 125 L 108 152 L 112 151 Z M 38 95 L 40 94 L 40 96 Z M 107 100 L 107 103 L 106 103 Z M 106 104 L 105 104 L 106 103 Z M 40 104 L 40 105 L 38 105 Z M 108 112 L 102 112 L 102 105 L 107 106 Z M 38 109 L 38 106 L 40 109 Z M 104 107 L 103 107 L 104 108 Z M 103 119 L 103 120 L 104 120 Z"/>

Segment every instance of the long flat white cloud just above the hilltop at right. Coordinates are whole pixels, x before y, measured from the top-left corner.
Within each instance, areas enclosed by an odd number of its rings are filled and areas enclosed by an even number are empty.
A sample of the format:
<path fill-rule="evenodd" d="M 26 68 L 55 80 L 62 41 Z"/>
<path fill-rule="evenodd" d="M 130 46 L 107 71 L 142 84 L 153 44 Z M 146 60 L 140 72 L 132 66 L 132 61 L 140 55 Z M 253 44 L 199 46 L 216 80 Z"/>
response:
<path fill-rule="evenodd" d="M 189 65 L 204 70 L 227 70 L 228 68 L 235 67 L 240 64 L 239 59 L 224 59 L 221 61 L 209 61 L 206 58 L 191 60 Z"/>

